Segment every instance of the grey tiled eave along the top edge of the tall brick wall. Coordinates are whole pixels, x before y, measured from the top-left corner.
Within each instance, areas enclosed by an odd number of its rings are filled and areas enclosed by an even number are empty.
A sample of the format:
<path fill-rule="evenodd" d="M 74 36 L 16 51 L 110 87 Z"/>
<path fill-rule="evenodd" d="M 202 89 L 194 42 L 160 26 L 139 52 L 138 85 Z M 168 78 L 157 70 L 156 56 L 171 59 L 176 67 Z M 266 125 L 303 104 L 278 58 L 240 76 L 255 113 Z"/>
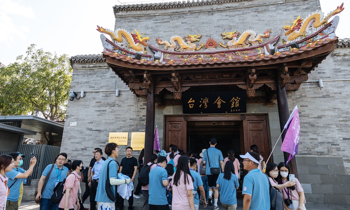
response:
<path fill-rule="evenodd" d="M 247 1 L 247 0 L 236 0 L 236 1 Z M 172 2 L 157 2 L 157 3 L 140 3 L 140 4 L 134 4 L 134 5 L 115 5 L 113 7 L 114 10 L 121 10 L 125 8 L 145 8 L 145 7 L 151 7 L 153 9 L 156 9 L 159 7 L 160 9 L 166 9 L 167 7 L 188 7 L 188 6 L 201 6 L 201 5 L 207 5 L 207 4 L 213 4 L 215 3 L 227 3 L 227 2 L 236 2 L 236 1 L 228 1 L 228 0 L 192 0 L 192 1 L 172 1 Z M 200 4 L 200 5 L 199 5 Z"/>

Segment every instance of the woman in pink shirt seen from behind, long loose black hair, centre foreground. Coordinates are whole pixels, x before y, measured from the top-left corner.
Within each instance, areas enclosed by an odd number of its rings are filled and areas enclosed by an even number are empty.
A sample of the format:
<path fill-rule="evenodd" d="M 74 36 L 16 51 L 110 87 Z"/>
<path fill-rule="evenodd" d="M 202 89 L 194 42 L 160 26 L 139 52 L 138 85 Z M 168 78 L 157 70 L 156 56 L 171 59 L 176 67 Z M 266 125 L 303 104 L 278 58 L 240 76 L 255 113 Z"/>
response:
<path fill-rule="evenodd" d="M 190 173 L 188 156 L 181 156 L 173 176 L 173 205 L 172 210 L 195 210 L 193 200 L 193 177 Z"/>

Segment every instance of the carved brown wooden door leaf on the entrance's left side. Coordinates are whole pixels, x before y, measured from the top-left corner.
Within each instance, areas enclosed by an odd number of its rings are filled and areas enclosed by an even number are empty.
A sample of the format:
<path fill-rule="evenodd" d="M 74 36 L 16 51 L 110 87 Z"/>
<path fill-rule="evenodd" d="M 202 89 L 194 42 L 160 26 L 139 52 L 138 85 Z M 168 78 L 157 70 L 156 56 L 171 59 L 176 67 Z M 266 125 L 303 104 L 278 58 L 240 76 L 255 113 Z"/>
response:
<path fill-rule="evenodd" d="M 177 148 L 187 151 L 186 144 L 186 121 L 181 117 L 166 117 L 164 149 L 168 152 L 169 145 L 176 145 Z"/>

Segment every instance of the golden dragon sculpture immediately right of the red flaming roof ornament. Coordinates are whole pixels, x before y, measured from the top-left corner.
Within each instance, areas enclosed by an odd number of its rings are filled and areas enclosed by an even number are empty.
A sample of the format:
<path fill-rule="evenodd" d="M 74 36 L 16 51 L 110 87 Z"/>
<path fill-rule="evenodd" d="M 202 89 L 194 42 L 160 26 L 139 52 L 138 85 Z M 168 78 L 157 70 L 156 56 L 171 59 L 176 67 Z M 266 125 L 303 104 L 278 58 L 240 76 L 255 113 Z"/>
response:
<path fill-rule="evenodd" d="M 223 39 L 229 38 L 231 39 L 225 45 L 222 42 L 219 42 L 219 47 L 228 47 L 229 49 L 236 48 L 245 48 L 250 46 L 255 46 L 261 44 L 262 37 L 269 37 L 271 33 L 271 29 L 265 31 L 264 33 L 257 34 L 253 30 L 245 30 L 243 33 L 237 33 L 236 31 L 230 33 L 222 33 Z M 249 38 L 248 38 L 249 37 Z M 248 39 L 248 40 L 247 40 Z M 251 44 L 251 45 L 250 45 Z"/>

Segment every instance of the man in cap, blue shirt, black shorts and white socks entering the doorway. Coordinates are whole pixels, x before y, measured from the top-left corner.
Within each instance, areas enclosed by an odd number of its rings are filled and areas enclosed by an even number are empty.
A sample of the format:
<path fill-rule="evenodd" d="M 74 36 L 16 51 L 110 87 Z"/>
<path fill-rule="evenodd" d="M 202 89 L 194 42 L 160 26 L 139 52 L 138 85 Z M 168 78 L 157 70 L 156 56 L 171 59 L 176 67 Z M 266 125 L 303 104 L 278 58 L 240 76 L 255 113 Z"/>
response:
<path fill-rule="evenodd" d="M 212 138 L 210 139 L 210 147 L 207 149 L 207 151 L 203 154 L 203 164 L 206 165 L 205 174 L 207 174 L 208 177 L 208 185 L 209 185 L 209 197 L 208 197 L 208 205 L 213 205 L 212 203 L 212 197 L 213 194 L 213 188 L 214 188 L 214 210 L 218 210 L 219 207 L 217 205 L 218 198 L 219 198 L 219 190 L 216 188 L 216 181 L 219 177 L 219 174 L 212 174 L 210 172 L 210 168 L 221 168 L 221 173 L 224 172 L 224 157 L 222 156 L 222 153 L 220 150 L 215 148 L 216 145 L 216 139 Z M 207 163 L 208 161 L 208 163 Z"/>

